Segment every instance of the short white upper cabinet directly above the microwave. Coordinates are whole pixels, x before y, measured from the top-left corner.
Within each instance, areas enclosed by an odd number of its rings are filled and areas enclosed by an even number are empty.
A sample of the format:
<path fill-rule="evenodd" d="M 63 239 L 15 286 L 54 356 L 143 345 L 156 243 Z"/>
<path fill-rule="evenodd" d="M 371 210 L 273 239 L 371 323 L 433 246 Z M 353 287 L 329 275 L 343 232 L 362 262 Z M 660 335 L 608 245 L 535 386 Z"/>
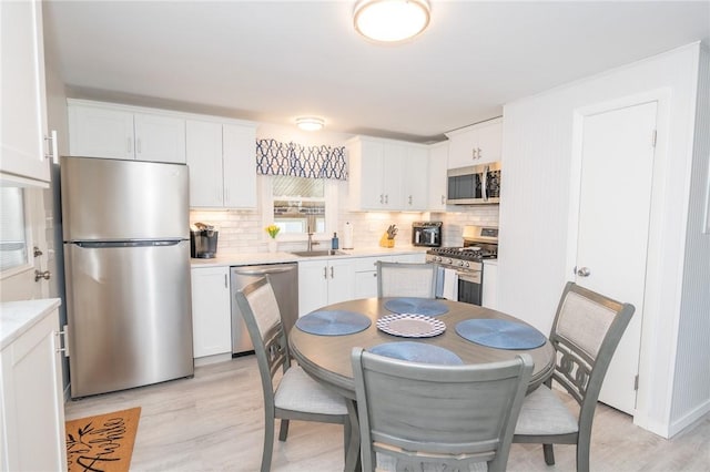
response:
<path fill-rule="evenodd" d="M 500 161 L 503 119 L 477 123 L 446 133 L 449 138 L 448 168 Z"/>

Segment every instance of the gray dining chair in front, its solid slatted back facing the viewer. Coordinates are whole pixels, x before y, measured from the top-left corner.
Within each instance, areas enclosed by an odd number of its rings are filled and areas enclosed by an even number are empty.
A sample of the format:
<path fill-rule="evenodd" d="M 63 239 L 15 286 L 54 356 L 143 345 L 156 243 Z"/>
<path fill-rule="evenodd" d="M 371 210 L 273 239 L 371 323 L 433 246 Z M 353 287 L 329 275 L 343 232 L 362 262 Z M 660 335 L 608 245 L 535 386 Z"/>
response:
<path fill-rule="evenodd" d="M 505 471 L 529 355 L 442 366 L 354 348 L 352 362 L 363 471 Z"/>

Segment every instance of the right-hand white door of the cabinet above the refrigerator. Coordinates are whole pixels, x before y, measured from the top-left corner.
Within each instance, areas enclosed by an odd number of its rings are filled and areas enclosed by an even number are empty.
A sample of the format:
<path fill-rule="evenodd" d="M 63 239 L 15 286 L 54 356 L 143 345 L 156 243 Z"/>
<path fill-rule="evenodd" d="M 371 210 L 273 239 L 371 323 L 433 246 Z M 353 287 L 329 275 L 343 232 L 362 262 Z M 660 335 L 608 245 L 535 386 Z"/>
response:
<path fill-rule="evenodd" d="M 172 116 L 136 113 L 135 158 L 185 163 L 185 121 Z"/>

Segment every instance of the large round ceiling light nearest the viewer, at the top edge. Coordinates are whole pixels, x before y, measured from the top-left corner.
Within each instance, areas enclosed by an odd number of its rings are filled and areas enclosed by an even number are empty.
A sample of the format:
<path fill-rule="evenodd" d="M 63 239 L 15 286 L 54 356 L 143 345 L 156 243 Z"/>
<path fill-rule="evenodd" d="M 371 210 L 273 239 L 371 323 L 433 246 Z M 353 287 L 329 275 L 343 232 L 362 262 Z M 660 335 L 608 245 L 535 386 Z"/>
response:
<path fill-rule="evenodd" d="M 353 22 L 362 35 L 383 42 L 404 41 L 429 24 L 427 0 L 361 0 Z"/>

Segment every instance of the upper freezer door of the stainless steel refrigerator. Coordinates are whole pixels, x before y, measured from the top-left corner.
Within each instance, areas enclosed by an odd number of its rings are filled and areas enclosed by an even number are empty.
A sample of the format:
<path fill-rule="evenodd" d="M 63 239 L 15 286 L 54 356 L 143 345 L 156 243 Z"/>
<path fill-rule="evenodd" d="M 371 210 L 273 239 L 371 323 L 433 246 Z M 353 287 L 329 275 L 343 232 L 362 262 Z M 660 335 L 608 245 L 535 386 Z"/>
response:
<path fill-rule="evenodd" d="M 187 239 L 186 165 L 62 157 L 64 240 Z"/>

